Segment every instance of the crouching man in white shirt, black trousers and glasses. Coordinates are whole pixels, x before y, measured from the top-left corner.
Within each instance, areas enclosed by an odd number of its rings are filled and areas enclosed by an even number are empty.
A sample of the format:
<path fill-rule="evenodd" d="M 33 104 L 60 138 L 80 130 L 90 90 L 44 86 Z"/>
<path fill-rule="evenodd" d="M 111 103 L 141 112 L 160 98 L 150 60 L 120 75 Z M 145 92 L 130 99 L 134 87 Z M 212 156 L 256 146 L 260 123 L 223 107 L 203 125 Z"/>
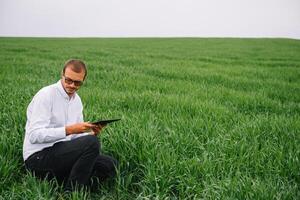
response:
<path fill-rule="evenodd" d="M 65 63 L 61 80 L 42 88 L 27 108 L 23 158 L 40 178 L 55 177 L 66 190 L 88 187 L 116 174 L 117 161 L 99 153 L 97 135 L 103 127 L 83 122 L 76 91 L 87 75 L 80 60 Z"/>

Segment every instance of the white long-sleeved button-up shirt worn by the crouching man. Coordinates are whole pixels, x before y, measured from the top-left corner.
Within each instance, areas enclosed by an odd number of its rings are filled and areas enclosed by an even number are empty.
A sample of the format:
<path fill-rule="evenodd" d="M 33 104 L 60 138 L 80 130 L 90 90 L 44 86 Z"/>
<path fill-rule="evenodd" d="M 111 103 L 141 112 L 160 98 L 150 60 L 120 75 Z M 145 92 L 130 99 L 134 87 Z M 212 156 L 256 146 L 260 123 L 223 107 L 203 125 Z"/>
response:
<path fill-rule="evenodd" d="M 83 122 L 82 110 L 80 97 L 75 93 L 70 98 L 61 80 L 38 91 L 27 108 L 23 159 L 56 142 L 89 134 L 66 136 L 65 126 Z"/>

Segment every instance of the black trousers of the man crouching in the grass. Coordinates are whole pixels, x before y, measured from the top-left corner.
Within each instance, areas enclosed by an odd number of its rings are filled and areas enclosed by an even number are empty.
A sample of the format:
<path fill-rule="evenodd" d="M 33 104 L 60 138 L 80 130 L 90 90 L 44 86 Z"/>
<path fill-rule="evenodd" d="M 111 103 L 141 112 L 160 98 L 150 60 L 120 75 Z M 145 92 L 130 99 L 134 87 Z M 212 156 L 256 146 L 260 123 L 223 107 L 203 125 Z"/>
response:
<path fill-rule="evenodd" d="M 100 181 L 116 174 L 117 161 L 100 154 L 100 143 L 93 135 L 55 143 L 32 154 L 25 166 L 39 178 L 56 178 L 66 190 L 89 187 L 91 179 Z"/>

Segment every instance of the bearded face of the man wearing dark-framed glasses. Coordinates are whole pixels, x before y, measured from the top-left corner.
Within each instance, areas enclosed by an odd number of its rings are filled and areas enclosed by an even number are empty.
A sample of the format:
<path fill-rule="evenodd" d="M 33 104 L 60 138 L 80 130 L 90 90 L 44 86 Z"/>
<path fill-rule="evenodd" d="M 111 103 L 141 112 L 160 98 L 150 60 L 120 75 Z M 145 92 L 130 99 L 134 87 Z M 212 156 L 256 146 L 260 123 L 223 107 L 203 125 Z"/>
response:
<path fill-rule="evenodd" d="M 80 82 L 83 83 L 85 72 L 77 73 L 67 67 L 65 74 L 62 75 L 62 85 L 69 96 L 72 96 L 79 88 Z"/>

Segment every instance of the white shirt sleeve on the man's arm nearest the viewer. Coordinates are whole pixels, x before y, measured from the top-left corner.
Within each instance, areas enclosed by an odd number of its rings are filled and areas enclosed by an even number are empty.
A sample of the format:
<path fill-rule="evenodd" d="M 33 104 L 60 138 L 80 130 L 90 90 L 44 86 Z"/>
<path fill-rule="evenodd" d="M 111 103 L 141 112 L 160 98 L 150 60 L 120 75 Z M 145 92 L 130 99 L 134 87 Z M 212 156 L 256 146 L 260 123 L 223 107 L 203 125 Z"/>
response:
<path fill-rule="evenodd" d="M 51 96 L 45 92 L 37 94 L 33 99 L 27 130 L 32 144 L 55 142 L 66 137 L 65 127 L 50 127 L 51 104 Z"/>

